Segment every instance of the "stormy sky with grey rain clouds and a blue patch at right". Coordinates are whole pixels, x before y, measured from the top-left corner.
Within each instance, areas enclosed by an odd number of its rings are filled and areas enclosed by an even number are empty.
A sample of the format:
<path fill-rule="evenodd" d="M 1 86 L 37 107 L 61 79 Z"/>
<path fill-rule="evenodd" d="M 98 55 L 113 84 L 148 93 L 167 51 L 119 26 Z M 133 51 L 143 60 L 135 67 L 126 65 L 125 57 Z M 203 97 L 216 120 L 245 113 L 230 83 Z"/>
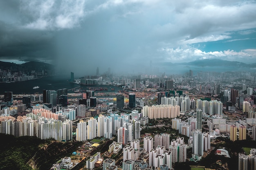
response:
<path fill-rule="evenodd" d="M 75 75 L 154 63 L 256 63 L 255 0 L 0 0 L 0 61 Z"/>

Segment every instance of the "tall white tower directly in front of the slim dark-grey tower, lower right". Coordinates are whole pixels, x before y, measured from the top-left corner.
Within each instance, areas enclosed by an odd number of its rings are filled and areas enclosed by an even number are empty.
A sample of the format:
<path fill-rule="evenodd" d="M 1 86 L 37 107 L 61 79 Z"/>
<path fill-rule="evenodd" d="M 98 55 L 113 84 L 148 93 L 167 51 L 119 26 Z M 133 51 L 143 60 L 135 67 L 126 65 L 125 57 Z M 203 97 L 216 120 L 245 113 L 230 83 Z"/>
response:
<path fill-rule="evenodd" d="M 204 134 L 201 131 L 192 131 L 193 144 L 192 153 L 193 158 L 200 160 L 204 155 Z"/>

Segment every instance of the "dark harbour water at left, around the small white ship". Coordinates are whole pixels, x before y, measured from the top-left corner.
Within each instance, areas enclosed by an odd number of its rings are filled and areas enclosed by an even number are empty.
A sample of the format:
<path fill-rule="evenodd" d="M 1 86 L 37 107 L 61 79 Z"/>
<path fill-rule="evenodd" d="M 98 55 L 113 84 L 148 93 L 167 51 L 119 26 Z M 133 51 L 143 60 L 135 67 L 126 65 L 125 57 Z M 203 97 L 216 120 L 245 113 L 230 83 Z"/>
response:
<path fill-rule="evenodd" d="M 33 87 L 39 86 L 37 89 Z M 90 87 L 94 89 L 107 88 L 108 90 L 95 91 L 95 92 L 119 92 L 121 87 L 114 85 L 79 85 L 71 83 L 67 78 L 60 78 L 58 76 L 43 77 L 29 81 L 17 81 L 11 83 L 0 83 L 0 94 L 4 94 L 6 91 L 13 92 L 13 94 L 43 94 L 43 89 L 57 90 L 66 88 L 67 93 L 75 93 L 74 88 L 81 90 L 88 90 Z M 112 89 L 112 90 L 111 90 Z"/>

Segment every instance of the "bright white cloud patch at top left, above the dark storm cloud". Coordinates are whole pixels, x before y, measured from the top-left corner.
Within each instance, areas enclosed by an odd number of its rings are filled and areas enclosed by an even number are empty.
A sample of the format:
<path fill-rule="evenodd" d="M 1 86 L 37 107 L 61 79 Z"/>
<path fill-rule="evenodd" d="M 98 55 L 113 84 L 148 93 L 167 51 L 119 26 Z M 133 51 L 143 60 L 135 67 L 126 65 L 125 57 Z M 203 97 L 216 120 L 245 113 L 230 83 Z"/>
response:
<path fill-rule="evenodd" d="M 79 26 L 85 16 L 85 0 L 22 0 L 20 10 L 33 16 L 24 27 L 54 30 Z"/>

